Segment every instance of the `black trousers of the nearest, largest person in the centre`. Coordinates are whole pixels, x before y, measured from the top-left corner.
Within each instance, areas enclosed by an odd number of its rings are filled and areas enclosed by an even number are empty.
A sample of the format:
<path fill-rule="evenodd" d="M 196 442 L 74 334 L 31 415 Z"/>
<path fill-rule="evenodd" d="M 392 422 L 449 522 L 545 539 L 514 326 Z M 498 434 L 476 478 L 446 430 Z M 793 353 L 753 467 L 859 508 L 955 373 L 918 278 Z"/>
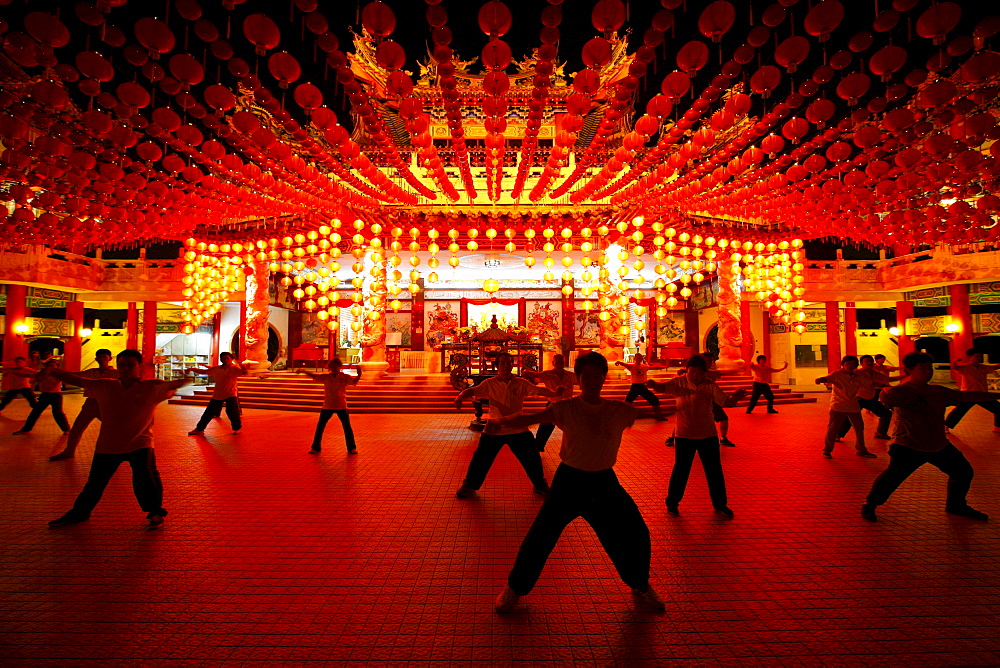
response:
<path fill-rule="evenodd" d="M 652 548 L 649 528 L 635 501 L 613 469 L 581 471 L 560 464 L 552 478 L 552 493 L 524 537 L 507 578 L 514 593 L 523 596 L 532 590 L 563 529 L 577 517 L 593 527 L 622 581 L 646 591 Z"/>

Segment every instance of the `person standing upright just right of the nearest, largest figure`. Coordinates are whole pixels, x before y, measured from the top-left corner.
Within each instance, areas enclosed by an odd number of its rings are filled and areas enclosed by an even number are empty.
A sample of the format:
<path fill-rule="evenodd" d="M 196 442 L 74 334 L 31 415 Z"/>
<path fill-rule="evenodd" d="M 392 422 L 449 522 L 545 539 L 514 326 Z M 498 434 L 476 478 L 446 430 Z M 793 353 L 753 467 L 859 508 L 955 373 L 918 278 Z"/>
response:
<path fill-rule="evenodd" d="M 708 495 L 712 507 L 726 517 L 733 517 L 726 495 L 726 479 L 722 474 L 722 457 L 719 453 L 719 435 L 715 430 L 713 406 L 735 406 L 746 396 L 746 389 L 740 388 L 732 394 L 726 393 L 709 380 L 708 362 L 702 355 L 695 355 L 687 361 L 687 373 L 672 378 L 666 383 L 648 381 L 649 387 L 657 392 L 672 394 L 677 398 L 677 428 L 674 437 L 674 468 L 670 473 L 667 491 L 667 512 L 680 515 L 678 505 L 684 497 L 694 456 L 701 459 L 708 482 Z"/>

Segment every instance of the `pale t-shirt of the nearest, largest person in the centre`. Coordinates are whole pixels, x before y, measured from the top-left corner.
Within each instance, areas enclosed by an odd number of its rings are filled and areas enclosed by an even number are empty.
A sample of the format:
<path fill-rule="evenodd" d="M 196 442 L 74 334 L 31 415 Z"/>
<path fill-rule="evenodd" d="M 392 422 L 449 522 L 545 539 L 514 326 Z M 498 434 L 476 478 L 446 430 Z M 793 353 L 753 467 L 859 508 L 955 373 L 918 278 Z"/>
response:
<path fill-rule="evenodd" d="M 602 399 L 591 404 L 583 397 L 557 401 L 551 410 L 563 431 L 559 458 L 581 471 L 604 471 L 615 465 L 622 432 L 639 412 L 624 401 Z"/>

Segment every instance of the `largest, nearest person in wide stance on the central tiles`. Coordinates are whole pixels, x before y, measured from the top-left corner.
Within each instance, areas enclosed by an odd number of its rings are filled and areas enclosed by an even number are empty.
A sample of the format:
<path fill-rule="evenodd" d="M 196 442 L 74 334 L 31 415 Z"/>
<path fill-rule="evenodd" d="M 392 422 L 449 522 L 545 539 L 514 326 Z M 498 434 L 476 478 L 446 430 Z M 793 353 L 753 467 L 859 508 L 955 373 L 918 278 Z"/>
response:
<path fill-rule="evenodd" d="M 577 517 L 594 529 L 625 584 L 648 605 L 663 610 L 663 600 L 649 584 L 649 528 L 613 468 L 622 432 L 632 426 L 636 409 L 601 398 L 608 361 L 600 353 L 581 355 L 573 370 L 580 396 L 557 401 L 541 413 L 504 416 L 486 424 L 487 434 L 545 422 L 563 430 L 562 463 L 552 478 L 552 493 L 521 543 L 495 610 L 509 612 L 534 588 L 563 529 Z"/>

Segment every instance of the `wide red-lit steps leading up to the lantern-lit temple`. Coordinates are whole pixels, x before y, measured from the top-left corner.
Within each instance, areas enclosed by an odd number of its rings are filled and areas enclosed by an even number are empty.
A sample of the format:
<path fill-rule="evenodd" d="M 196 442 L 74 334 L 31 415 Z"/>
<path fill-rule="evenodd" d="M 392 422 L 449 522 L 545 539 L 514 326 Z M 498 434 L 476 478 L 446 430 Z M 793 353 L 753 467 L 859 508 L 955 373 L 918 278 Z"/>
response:
<path fill-rule="evenodd" d="M 674 371 L 653 370 L 650 377 L 666 380 L 675 375 Z M 748 375 L 725 375 L 719 386 L 731 393 L 740 387 L 750 387 Z M 624 399 L 628 392 L 628 374 L 613 369 L 604 386 L 603 396 L 608 399 Z M 798 404 L 815 402 L 816 397 L 804 396 L 789 389 L 771 386 L 775 404 Z M 266 408 L 284 411 L 318 412 L 323 403 L 322 386 L 308 376 L 291 372 L 274 372 L 259 378 L 241 378 L 239 381 L 240 405 L 243 408 Z M 455 412 L 457 392 L 452 389 L 447 374 L 410 375 L 391 374 L 374 381 L 363 380 L 347 390 L 347 402 L 352 413 L 451 413 Z M 659 395 L 665 413 L 674 412 L 673 397 Z M 172 404 L 204 406 L 211 397 L 211 390 L 199 387 L 194 394 L 178 395 L 170 400 Z M 747 399 L 740 402 L 746 406 Z M 636 407 L 642 413 L 650 413 L 649 405 L 641 397 Z M 545 399 L 531 397 L 525 402 L 528 411 L 541 410 Z M 761 406 L 758 406 L 762 410 Z M 470 411 L 466 402 L 465 411 Z M 650 413 L 651 414 L 651 413 Z"/>

